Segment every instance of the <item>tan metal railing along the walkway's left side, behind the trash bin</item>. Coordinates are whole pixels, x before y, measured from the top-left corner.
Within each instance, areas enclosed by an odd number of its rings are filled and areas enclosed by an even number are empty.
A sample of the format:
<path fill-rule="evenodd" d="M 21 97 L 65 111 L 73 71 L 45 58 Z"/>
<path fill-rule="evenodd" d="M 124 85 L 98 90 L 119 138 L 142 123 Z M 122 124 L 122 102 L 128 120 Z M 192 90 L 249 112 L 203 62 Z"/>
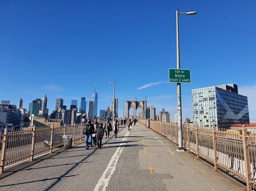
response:
<path fill-rule="evenodd" d="M 33 161 L 41 154 L 52 153 L 55 148 L 63 147 L 63 135 L 72 135 L 72 143 L 82 140 L 83 126 L 86 123 L 64 127 L 32 127 L 21 131 L 7 128 L 0 134 L 0 173 L 4 167 L 21 161 Z"/>

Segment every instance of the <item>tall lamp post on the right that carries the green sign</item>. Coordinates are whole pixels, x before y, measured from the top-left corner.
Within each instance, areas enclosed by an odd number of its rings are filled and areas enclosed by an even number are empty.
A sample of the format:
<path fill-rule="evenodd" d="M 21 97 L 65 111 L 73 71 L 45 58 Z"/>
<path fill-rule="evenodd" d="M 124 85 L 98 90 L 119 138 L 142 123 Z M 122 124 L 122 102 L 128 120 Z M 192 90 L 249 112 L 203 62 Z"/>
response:
<path fill-rule="evenodd" d="M 176 40 L 177 40 L 177 69 L 180 69 L 180 39 L 179 39 L 179 14 L 193 15 L 197 12 L 179 13 L 176 10 Z M 182 111 L 181 111 L 181 83 L 177 83 L 177 116 L 178 116 L 178 142 L 179 148 L 177 151 L 184 151 L 182 140 Z"/>

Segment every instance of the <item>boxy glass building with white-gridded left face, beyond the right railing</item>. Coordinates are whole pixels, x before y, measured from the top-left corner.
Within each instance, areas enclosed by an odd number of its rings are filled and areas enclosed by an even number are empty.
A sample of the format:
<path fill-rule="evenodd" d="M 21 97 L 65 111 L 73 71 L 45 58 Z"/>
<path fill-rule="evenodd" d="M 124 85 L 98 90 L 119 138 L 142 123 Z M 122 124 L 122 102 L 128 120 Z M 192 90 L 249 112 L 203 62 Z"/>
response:
<path fill-rule="evenodd" d="M 231 124 L 250 123 L 247 97 L 235 84 L 192 89 L 193 123 L 199 127 L 229 129 Z"/>

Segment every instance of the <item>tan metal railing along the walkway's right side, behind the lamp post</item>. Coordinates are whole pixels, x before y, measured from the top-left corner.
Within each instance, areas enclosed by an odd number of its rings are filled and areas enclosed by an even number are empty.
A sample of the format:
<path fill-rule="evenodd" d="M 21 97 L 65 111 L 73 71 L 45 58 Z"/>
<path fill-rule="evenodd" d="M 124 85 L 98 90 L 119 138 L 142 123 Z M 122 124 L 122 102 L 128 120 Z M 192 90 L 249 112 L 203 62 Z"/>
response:
<path fill-rule="evenodd" d="M 145 124 L 144 120 L 138 120 Z M 146 126 L 178 144 L 177 123 L 146 121 Z M 242 130 L 216 130 L 183 125 L 183 147 L 219 168 L 245 180 L 246 190 L 256 185 L 256 136 Z"/>

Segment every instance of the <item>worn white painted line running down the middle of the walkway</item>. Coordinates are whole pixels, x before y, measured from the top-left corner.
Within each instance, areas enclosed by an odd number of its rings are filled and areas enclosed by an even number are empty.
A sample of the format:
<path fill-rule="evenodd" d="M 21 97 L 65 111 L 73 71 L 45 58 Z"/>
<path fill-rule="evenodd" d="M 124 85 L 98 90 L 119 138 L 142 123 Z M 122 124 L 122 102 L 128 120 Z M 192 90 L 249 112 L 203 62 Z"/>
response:
<path fill-rule="evenodd" d="M 125 142 L 127 140 L 127 137 L 129 136 L 130 131 L 127 131 L 125 137 L 123 137 L 122 142 Z M 108 186 L 108 182 L 110 181 L 111 176 L 113 175 L 115 168 L 117 167 L 119 156 L 121 155 L 123 151 L 123 145 L 126 143 L 120 143 L 120 145 L 117 148 L 117 151 L 113 154 L 110 162 L 108 163 L 105 171 L 103 172 L 102 177 L 100 177 L 97 185 L 94 188 L 94 191 L 98 190 L 106 190 Z"/>

